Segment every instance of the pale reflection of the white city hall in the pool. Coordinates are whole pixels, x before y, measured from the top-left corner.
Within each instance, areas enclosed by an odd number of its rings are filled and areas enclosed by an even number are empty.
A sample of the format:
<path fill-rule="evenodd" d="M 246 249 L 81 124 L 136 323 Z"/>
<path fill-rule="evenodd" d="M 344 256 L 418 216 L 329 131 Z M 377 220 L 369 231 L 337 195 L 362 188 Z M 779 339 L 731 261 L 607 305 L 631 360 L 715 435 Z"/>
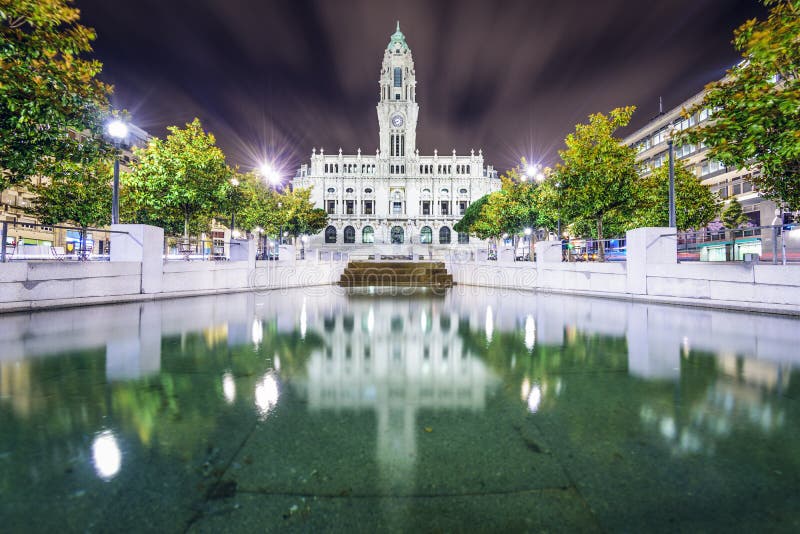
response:
<path fill-rule="evenodd" d="M 442 304 L 353 298 L 346 313 L 323 317 L 324 346 L 312 352 L 305 376 L 290 379 L 310 411 L 375 413 L 387 492 L 414 487 L 420 410 L 481 411 L 499 384 Z"/>

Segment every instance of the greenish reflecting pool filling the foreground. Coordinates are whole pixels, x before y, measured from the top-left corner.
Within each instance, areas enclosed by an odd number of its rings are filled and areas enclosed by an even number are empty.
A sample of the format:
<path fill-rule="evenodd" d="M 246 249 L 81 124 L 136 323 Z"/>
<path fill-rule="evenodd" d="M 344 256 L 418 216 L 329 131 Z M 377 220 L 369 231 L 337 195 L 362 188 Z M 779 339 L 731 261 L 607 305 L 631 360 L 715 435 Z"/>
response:
<path fill-rule="evenodd" d="M 457 287 L 0 316 L 19 531 L 798 531 L 800 321 Z"/>

